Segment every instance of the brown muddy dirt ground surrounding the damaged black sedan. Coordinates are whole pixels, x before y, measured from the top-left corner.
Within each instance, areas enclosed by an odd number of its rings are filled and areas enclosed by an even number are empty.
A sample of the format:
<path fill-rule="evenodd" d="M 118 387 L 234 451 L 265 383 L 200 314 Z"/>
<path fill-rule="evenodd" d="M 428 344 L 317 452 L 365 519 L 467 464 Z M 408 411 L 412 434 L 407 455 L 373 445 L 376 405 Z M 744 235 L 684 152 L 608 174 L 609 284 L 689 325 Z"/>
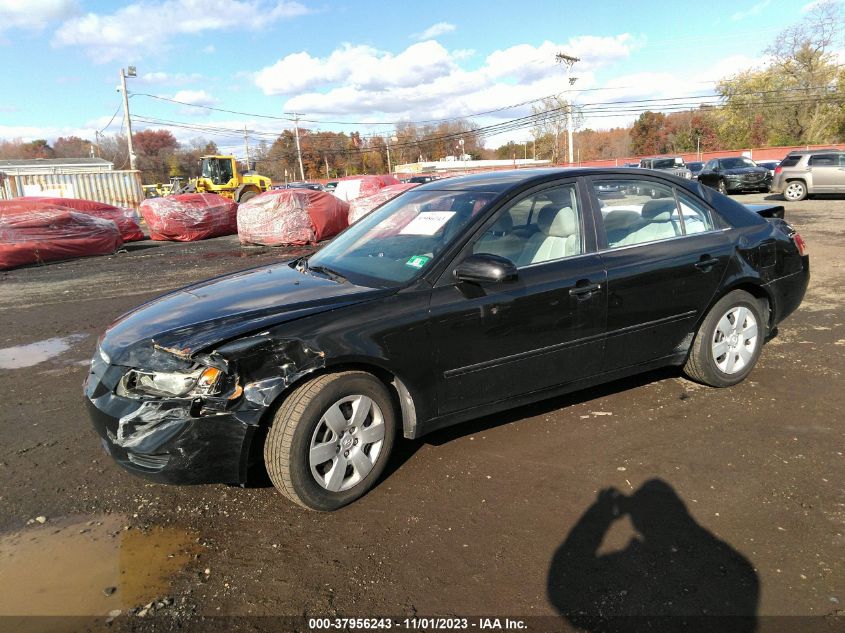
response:
<path fill-rule="evenodd" d="M 402 441 L 378 487 L 333 514 L 268 486 L 133 477 L 103 454 L 83 405 L 87 360 L 115 317 L 284 252 L 234 237 L 143 242 L 0 273 L 0 363 L 4 349 L 61 339 L 29 348 L 42 362 L 0 369 L 0 614 L 121 610 L 112 630 L 192 630 L 200 616 L 599 615 L 632 601 L 646 615 L 706 613 L 727 594 L 740 612 L 822 616 L 792 630 L 842 630 L 845 200 L 786 207 L 812 282 L 743 384 L 652 372 Z M 662 483 L 641 490 L 650 480 Z M 593 504 L 609 487 L 641 492 L 607 518 Z M 656 545 L 629 546 L 636 530 Z M 95 541 L 112 546 L 84 554 Z M 714 560 L 716 579 L 704 570 Z"/>

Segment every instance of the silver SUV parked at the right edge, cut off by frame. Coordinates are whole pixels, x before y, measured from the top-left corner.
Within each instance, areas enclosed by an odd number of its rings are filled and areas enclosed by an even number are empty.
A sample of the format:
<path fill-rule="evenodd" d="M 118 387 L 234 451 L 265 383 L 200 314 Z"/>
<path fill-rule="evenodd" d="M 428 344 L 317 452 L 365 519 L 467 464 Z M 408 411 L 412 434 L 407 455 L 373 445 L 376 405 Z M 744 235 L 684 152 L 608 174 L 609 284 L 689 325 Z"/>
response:
<path fill-rule="evenodd" d="M 772 191 L 792 201 L 816 193 L 845 193 L 845 151 L 790 152 L 775 168 Z"/>

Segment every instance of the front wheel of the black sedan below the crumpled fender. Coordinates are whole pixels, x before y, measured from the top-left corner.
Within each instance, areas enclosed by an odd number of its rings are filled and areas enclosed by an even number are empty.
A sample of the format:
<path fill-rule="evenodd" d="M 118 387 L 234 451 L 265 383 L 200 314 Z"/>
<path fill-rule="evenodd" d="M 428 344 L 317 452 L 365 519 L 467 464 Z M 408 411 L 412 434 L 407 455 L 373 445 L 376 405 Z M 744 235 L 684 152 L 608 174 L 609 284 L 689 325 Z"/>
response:
<path fill-rule="evenodd" d="M 337 510 L 375 485 L 395 436 L 393 399 L 381 381 L 361 371 L 326 374 L 282 403 L 264 461 L 288 499 L 311 510 Z"/>

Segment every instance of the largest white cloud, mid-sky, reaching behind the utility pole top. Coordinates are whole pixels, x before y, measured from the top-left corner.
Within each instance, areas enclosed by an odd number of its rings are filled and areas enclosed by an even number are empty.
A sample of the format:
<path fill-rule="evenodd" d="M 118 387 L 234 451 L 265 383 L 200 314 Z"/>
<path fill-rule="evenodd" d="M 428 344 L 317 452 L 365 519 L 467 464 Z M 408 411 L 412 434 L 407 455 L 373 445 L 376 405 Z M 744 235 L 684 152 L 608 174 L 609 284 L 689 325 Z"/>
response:
<path fill-rule="evenodd" d="M 580 89 L 595 85 L 597 69 L 625 59 L 638 47 L 628 34 L 584 36 L 497 50 L 472 70 L 462 67 L 472 51 L 449 51 L 429 40 L 394 53 L 344 44 L 326 57 L 293 53 L 254 76 L 269 95 L 290 95 L 284 109 L 332 120 L 422 120 L 469 116 L 530 101 L 565 89 L 560 51 L 582 57 L 574 76 Z M 518 97 L 515 95 L 518 94 Z M 530 104 L 508 108 L 479 122 L 531 113 Z"/>

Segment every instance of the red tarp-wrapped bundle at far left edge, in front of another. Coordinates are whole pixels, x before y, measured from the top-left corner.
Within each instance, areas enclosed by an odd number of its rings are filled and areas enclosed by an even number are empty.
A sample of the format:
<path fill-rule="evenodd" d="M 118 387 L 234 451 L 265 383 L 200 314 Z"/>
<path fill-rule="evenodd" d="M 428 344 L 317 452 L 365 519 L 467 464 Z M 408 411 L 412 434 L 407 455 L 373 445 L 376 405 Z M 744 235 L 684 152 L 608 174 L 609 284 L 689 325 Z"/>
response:
<path fill-rule="evenodd" d="M 111 220 L 62 207 L 0 214 L 0 269 L 109 255 L 122 244 Z"/>

